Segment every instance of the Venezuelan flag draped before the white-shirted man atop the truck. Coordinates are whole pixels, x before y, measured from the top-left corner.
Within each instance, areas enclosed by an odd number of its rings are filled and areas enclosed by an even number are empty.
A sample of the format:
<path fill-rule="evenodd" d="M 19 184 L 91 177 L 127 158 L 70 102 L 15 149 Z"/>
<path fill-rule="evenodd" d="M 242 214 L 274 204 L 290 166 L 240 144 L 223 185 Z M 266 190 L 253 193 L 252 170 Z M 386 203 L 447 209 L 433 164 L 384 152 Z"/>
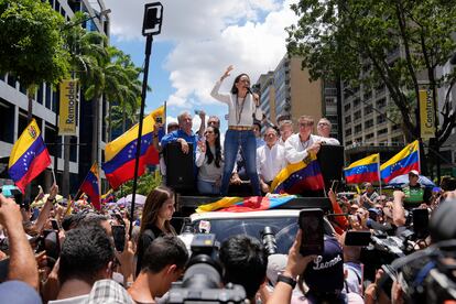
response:
<path fill-rule="evenodd" d="M 324 187 L 322 171 L 313 153 L 304 161 L 282 169 L 271 184 L 272 193 L 282 194 L 300 194 L 303 191 L 321 191 Z"/>

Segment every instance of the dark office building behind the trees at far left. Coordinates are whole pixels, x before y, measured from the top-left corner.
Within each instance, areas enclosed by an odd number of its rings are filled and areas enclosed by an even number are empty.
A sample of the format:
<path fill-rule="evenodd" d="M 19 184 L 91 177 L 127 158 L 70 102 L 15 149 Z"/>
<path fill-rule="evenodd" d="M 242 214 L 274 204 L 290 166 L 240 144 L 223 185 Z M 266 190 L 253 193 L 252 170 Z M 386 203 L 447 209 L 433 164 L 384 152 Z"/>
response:
<path fill-rule="evenodd" d="M 52 8 L 61 13 L 67 22 L 73 18 L 75 12 L 86 12 L 88 17 L 94 17 L 87 20 L 83 28 L 88 31 L 102 32 L 109 36 L 109 17 L 100 15 L 101 11 L 106 10 L 102 0 L 48 0 Z M 75 193 L 77 187 L 84 178 L 90 163 L 86 164 L 85 156 L 90 153 L 86 149 L 91 148 L 91 109 L 90 102 L 85 102 L 83 96 L 79 94 L 79 102 L 76 111 L 76 135 L 69 137 L 69 193 Z M 22 131 L 28 126 L 28 96 L 25 88 L 12 76 L 0 75 L 0 120 L 3 122 L 0 128 L 0 183 L 10 183 L 8 181 L 8 161 L 11 154 L 13 143 L 21 135 Z M 57 127 L 57 108 L 59 102 L 59 90 L 53 88 L 51 84 L 41 84 L 37 88 L 33 99 L 33 118 L 36 120 L 47 145 L 52 159 L 52 167 L 56 169 L 57 183 L 62 183 L 63 167 L 64 167 L 64 140 L 58 135 Z M 107 112 L 106 102 L 100 102 L 100 113 Z M 104 117 L 104 116 L 101 116 Z M 99 130 L 101 130 L 101 139 L 106 139 L 105 120 L 100 119 Z M 104 143 L 100 144 L 104 148 Z M 101 149 L 99 151 L 99 160 L 101 160 Z M 56 158 L 55 158 L 56 156 Z M 56 162 L 55 162 L 56 160 Z M 88 167 L 86 170 L 86 167 Z M 47 169 L 32 183 L 32 194 L 36 191 L 34 185 L 42 185 L 47 189 L 53 183 L 51 169 Z"/>

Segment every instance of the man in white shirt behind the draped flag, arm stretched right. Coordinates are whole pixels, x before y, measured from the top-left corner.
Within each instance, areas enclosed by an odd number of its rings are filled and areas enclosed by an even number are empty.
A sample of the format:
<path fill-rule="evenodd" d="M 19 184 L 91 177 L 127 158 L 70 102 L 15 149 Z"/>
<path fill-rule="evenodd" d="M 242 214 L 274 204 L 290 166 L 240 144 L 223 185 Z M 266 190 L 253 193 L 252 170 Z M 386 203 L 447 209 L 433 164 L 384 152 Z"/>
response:
<path fill-rule="evenodd" d="M 312 134 L 314 119 L 311 116 L 302 116 L 297 120 L 300 132 L 291 135 L 285 142 L 285 159 L 289 163 L 295 164 L 308 156 L 308 153 L 318 153 L 323 142 L 326 144 L 338 144 L 336 139 L 322 138 Z"/>

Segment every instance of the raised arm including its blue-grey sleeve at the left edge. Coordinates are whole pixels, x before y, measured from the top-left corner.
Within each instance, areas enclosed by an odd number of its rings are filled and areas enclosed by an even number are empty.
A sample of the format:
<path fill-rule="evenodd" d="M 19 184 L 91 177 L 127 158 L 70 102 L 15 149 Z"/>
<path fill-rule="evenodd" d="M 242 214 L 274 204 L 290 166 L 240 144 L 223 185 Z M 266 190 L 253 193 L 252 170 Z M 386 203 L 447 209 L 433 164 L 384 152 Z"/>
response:
<path fill-rule="evenodd" d="M 22 227 L 19 205 L 2 194 L 0 194 L 0 224 L 8 231 L 10 251 L 8 281 L 0 284 L 1 301 L 41 303 L 35 291 L 39 287 L 37 265 Z"/>

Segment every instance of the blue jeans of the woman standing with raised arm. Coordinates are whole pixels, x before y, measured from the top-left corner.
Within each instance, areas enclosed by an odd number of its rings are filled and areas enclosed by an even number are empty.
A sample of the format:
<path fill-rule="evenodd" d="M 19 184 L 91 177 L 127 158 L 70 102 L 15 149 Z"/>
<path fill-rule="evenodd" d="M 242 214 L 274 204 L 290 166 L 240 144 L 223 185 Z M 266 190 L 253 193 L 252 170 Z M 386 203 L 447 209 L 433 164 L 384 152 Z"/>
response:
<path fill-rule="evenodd" d="M 229 181 L 231 178 L 232 169 L 235 166 L 236 155 L 238 154 L 239 145 L 242 148 L 246 160 L 246 171 L 252 185 L 253 195 L 261 195 L 260 181 L 257 174 L 257 141 L 253 131 L 237 131 L 228 130 L 225 133 L 224 144 L 224 176 L 221 178 L 220 194 L 226 196 L 228 194 Z"/>

